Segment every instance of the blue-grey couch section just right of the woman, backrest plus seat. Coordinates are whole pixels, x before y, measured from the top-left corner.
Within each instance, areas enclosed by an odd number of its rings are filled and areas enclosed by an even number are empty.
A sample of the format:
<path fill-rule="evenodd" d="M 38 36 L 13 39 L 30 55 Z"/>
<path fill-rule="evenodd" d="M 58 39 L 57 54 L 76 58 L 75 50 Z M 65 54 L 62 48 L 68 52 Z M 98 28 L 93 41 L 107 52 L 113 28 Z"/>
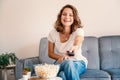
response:
<path fill-rule="evenodd" d="M 87 36 L 82 45 L 82 54 L 88 60 L 87 71 L 81 75 L 80 80 L 110 80 L 110 75 L 100 70 L 98 38 Z"/>

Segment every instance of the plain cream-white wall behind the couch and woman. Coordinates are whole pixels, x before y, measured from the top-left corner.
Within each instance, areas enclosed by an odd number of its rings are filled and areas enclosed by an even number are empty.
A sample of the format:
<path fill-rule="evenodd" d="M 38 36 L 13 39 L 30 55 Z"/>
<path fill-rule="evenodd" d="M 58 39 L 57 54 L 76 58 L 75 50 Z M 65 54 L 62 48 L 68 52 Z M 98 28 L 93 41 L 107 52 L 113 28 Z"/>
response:
<path fill-rule="evenodd" d="M 59 10 L 73 4 L 86 36 L 120 35 L 120 0 L 0 0 L 0 54 L 37 56 Z"/>

